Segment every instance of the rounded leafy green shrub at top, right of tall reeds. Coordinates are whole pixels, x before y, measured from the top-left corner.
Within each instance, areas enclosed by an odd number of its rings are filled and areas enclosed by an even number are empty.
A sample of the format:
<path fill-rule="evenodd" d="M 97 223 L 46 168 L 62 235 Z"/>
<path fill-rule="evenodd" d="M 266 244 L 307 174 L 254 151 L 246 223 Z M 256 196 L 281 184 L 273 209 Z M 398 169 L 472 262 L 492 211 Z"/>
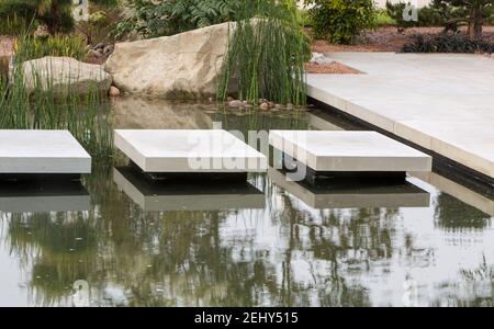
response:
<path fill-rule="evenodd" d="M 372 0 L 305 0 L 305 3 L 313 5 L 308 13 L 317 38 L 348 44 L 362 31 L 375 26 Z"/>

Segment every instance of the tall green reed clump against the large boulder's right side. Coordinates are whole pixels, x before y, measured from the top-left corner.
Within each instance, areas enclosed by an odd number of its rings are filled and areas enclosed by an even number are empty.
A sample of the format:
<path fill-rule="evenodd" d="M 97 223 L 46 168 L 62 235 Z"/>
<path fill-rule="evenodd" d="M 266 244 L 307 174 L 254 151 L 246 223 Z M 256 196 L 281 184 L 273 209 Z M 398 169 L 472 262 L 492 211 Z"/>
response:
<path fill-rule="evenodd" d="M 227 98 L 235 81 L 238 98 L 251 104 L 261 98 L 304 104 L 308 55 L 310 43 L 297 23 L 295 1 L 246 1 L 232 24 L 218 99 Z"/>

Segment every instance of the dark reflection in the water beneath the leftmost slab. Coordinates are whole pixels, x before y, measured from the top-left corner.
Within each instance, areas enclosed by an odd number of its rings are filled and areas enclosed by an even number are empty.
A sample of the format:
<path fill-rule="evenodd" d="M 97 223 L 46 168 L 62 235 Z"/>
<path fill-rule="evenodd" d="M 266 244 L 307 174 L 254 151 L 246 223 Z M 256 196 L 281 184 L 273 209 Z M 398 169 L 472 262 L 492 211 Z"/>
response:
<path fill-rule="evenodd" d="M 82 212 L 89 208 L 90 196 L 80 182 L 3 182 L 0 184 L 0 212 Z"/>

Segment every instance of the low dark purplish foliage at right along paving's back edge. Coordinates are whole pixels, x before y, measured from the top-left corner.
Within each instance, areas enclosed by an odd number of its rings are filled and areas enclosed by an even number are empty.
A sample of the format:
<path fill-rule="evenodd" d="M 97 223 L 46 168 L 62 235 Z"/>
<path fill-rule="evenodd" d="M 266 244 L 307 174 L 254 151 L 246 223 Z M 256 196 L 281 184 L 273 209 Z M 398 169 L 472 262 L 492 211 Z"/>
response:
<path fill-rule="evenodd" d="M 460 34 L 417 34 L 412 37 L 413 42 L 403 46 L 403 53 L 494 53 L 494 44 L 472 41 Z"/>

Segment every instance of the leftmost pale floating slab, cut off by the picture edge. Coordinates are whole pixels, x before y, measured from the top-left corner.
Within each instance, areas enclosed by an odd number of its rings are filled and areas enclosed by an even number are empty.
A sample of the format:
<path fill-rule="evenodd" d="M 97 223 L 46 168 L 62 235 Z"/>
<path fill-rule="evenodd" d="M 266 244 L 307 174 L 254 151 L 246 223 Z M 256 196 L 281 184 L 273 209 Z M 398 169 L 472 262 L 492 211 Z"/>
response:
<path fill-rule="evenodd" d="M 90 172 L 91 157 L 68 131 L 0 131 L 0 179 Z"/>

